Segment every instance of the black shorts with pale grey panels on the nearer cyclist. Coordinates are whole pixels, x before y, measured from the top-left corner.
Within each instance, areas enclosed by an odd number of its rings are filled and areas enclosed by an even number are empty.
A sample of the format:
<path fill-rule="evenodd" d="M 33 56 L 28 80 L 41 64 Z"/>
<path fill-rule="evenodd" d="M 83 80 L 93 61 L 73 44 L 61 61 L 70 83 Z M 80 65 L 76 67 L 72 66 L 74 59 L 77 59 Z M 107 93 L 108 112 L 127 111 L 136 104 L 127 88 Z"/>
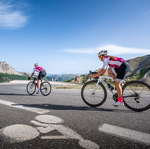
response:
<path fill-rule="evenodd" d="M 127 76 L 127 73 L 131 70 L 131 66 L 129 63 L 124 62 L 123 64 L 121 64 L 121 66 L 119 67 L 119 69 L 114 68 L 115 72 L 116 72 L 116 81 L 121 82 L 125 79 L 125 77 Z"/>

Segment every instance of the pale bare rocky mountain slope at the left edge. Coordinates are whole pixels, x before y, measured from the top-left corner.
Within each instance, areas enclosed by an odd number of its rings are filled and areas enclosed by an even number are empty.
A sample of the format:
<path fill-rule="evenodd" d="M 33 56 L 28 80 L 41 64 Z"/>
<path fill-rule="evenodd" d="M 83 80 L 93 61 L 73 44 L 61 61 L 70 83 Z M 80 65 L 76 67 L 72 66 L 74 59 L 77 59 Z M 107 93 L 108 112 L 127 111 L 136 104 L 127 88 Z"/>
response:
<path fill-rule="evenodd" d="M 9 64 L 7 64 L 6 62 L 0 62 L 0 73 L 21 75 L 13 67 L 11 67 Z"/>

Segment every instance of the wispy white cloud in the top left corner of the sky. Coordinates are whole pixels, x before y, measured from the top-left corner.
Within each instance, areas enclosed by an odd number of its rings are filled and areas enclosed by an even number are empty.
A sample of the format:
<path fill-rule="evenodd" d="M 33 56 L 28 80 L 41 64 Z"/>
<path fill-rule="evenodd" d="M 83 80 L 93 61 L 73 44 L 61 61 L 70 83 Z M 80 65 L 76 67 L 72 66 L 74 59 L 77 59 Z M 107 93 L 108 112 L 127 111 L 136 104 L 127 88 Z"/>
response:
<path fill-rule="evenodd" d="M 16 10 L 16 6 L 10 3 L 0 2 L 0 27 L 17 29 L 27 23 L 28 17 L 23 11 Z"/>

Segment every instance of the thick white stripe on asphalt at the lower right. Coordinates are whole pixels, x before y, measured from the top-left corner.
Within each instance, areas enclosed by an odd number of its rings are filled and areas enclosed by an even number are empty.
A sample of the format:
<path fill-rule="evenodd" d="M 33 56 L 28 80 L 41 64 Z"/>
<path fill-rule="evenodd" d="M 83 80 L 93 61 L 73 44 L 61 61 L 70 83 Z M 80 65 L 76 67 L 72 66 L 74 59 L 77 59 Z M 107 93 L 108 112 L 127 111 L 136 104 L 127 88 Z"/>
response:
<path fill-rule="evenodd" d="M 103 124 L 102 126 L 99 126 L 98 129 L 100 132 L 105 132 L 112 135 L 117 135 L 127 139 L 133 139 L 135 141 L 140 141 L 146 144 L 150 144 L 150 134 L 147 133 L 134 131 L 131 129 L 113 126 L 109 124 Z"/>

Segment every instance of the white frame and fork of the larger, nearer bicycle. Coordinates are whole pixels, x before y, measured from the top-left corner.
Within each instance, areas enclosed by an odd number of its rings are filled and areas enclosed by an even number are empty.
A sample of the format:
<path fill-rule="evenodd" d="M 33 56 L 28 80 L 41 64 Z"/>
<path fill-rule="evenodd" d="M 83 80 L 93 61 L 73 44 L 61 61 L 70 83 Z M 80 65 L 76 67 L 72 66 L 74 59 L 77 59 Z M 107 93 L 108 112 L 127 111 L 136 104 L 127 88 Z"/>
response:
<path fill-rule="evenodd" d="M 97 81 L 97 83 L 96 83 L 96 87 L 95 87 L 93 93 L 95 93 L 95 91 L 97 90 L 98 84 L 99 84 L 100 82 L 102 82 L 102 84 L 104 84 L 104 86 L 107 87 L 107 89 L 108 89 L 112 94 L 114 94 L 114 92 L 113 92 L 113 91 L 108 87 L 108 85 L 105 83 L 105 81 L 103 80 L 103 78 L 104 78 L 104 79 L 111 79 L 111 80 L 113 80 L 112 77 L 99 76 L 98 81 Z"/>

